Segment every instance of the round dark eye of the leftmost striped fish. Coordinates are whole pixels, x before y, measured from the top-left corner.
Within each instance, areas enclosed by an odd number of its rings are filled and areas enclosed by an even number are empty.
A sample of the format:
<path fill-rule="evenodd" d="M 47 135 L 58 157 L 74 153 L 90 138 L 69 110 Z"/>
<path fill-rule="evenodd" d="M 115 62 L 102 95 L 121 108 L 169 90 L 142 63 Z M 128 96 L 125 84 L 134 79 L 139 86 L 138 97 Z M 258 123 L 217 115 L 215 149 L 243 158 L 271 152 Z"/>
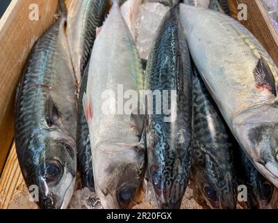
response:
<path fill-rule="evenodd" d="M 42 176 L 48 184 L 56 183 L 63 175 L 63 168 L 59 162 L 47 161 L 40 165 Z"/>

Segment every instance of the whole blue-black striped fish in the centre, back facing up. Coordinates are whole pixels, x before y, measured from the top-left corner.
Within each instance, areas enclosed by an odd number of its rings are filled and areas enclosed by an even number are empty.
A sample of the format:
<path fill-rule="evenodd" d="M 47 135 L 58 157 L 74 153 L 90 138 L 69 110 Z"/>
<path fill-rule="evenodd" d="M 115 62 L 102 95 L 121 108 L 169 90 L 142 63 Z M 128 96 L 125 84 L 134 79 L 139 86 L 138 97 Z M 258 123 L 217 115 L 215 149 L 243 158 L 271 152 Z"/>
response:
<path fill-rule="evenodd" d="M 154 111 L 148 114 L 146 126 L 148 171 L 158 208 L 179 208 L 188 184 L 192 135 L 192 75 L 188 47 L 179 33 L 179 6 L 167 12 L 156 35 L 145 89 L 161 95 L 163 90 L 176 91 L 177 118 L 165 122 L 165 115 L 155 114 L 159 101 L 147 105 Z M 168 107 L 171 102 L 168 98 Z"/>

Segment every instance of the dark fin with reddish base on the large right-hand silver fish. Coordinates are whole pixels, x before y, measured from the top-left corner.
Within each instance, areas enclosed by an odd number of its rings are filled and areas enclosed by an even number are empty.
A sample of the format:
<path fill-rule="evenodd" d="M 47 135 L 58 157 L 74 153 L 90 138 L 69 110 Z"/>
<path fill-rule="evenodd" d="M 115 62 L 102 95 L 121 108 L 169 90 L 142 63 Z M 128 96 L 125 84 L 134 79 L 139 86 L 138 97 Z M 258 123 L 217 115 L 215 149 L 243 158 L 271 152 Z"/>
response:
<path fill-rule="evenodd" d="M 254 78 L 256 81 L 256 88 L 270 91 L 273 95 L 277 96 L 275 79 L 272 71 L 268 66 L 268 63 L 261 57 L 256 64 L 256 68 L 253 71 Z"/>

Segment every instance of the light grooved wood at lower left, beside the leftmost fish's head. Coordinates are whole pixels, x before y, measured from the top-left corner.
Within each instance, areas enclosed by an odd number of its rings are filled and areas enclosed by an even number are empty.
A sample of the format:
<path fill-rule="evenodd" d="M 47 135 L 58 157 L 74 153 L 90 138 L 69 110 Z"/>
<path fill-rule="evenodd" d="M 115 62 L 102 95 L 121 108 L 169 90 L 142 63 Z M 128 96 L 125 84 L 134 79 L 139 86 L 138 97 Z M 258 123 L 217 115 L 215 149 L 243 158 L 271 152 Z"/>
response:
<path fill-rule="evenodd" d="M 0 209 L 8 208 L 10 201 L 16 194 L 22 192 L 24 187 L 26 187 L 26 184 L 17 161 L 15 144 L 13 144 L 0 178 Z"/>

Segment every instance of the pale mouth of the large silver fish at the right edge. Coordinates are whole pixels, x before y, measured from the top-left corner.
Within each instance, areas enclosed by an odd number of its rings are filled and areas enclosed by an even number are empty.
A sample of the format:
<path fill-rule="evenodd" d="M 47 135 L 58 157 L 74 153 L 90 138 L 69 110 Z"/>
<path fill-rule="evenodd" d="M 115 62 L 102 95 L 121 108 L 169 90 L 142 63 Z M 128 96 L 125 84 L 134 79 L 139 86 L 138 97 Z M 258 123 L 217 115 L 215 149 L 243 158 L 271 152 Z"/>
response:
<path fill-rule="evenodd" d="M 255 161 L 254 164 L 263 176 L 268 178 L 275 187 L 278 187 L 278 167 L 275 164 L 272 162 L 262 163 L 261 161 Z"/>

